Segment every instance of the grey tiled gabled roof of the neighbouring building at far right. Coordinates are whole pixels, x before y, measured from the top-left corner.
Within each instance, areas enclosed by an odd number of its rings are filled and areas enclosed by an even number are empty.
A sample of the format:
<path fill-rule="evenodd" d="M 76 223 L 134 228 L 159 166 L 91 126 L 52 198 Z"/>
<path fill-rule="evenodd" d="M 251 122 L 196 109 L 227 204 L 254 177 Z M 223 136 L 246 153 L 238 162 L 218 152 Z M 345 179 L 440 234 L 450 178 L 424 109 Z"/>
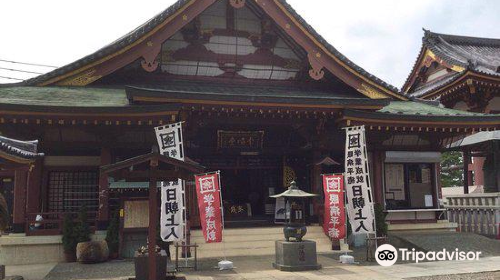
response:
<path fill-rule="evenodd" d="M 455 73 L 408 92 L 426 56 Z M 500 39 L 440 34 L 424 29 L 420 53 L 402 91 L 411 97 L 420 97 L 469 72 L 500 77 Z"/>

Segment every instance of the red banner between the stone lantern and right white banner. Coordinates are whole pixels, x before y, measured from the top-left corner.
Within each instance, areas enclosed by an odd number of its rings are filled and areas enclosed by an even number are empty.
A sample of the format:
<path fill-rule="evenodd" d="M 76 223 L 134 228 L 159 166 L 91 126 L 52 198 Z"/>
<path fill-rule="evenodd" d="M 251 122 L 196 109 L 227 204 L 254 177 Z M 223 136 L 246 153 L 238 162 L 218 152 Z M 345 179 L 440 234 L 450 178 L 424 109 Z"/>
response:
<path fill-rule="evenodd" d="M 323 230 L 333 239 L 345 237 L 344 176 L 323 175 L 325 215 Z"/>

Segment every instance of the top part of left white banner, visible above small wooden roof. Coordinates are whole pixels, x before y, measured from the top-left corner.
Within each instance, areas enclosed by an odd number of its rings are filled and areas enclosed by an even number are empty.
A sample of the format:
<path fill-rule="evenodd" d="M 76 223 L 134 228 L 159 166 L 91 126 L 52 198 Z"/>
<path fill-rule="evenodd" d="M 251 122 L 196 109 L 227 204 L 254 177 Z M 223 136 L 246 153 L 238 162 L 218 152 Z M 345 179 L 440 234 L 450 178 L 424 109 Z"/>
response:
<path fill-rule="evenodd" d="M 178 160 L 184 160 L 184 146 L 182 139 L 182 123 L 167 124 L 155 127 L 156 140 L 160 147 L 160 154 Z"/>

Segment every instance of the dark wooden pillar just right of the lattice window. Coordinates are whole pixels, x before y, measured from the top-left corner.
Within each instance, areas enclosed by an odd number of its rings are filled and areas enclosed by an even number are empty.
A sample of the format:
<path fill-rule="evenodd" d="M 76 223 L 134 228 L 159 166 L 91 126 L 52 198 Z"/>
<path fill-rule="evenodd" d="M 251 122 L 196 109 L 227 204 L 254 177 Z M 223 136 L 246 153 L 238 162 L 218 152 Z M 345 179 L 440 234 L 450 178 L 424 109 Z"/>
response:
<path fill-rule="evenodd" d="M 101 148 L 101 166 L 111 164 L 111 151 Z M 109 182 L 108 175 L 99 175 L 99 208 L 97 210 L 97 228 L 104 230 L 109 223 Z"/>

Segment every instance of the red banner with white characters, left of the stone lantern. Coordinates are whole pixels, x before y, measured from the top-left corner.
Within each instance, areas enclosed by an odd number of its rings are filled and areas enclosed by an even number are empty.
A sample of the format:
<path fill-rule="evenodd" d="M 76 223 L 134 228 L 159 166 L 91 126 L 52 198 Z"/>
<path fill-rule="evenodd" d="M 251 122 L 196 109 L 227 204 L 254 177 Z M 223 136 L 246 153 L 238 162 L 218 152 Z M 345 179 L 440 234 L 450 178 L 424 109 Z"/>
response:
<path fill-rule="evenodd" d="M 222 241 L 222 210 L 219 173 L 196 175 L 196 195 L 203 236 L 207 243 Z"/>

